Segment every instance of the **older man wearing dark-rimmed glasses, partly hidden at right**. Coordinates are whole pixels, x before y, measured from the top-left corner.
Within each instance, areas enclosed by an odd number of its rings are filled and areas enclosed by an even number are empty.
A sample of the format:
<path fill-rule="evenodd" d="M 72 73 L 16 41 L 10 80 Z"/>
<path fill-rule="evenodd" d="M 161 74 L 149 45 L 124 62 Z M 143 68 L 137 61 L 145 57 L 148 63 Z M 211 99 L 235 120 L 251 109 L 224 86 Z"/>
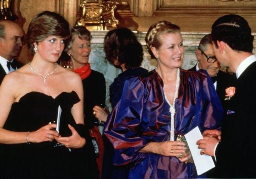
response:
<path fill-rule="evenodd" d="M 213 81 L 213 85 L 224 108 L 226 104 L 226 101 L 224 101 L 226 98 L 225 89 L 230 86 L 234 86 L 235 76 L 219 70 L 220 65 L 213 51 L 211 34 L 207 34 L 201 39 L 198 49 L 196 50 L 196 57 L 198 63 L 196 63 L 190 71 L 195 72 L 199 69 L 207 71 Z"/>

